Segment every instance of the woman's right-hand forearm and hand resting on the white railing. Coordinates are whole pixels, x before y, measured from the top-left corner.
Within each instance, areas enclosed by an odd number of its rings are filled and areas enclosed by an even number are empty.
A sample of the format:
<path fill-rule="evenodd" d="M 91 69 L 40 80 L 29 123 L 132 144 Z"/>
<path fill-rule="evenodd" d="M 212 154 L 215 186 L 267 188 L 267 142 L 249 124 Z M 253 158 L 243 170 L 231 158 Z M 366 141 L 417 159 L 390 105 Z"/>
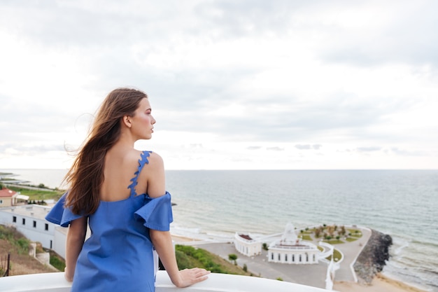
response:
<path fill-rule="evenodd" d="M 192 269 L 178 270 L 176 264 L 176 256 L 174 251 L 174 244 L 172 243 L 169 231 L 150 230 L 150 239 L 152 240 L 155 250 L 160 257 L 160 260 L 166 268 L 167 274 L 175 286 L 183 288 L 204 281 L 208 278 L 209 271 L 199 269 L 198 267 Z"/>

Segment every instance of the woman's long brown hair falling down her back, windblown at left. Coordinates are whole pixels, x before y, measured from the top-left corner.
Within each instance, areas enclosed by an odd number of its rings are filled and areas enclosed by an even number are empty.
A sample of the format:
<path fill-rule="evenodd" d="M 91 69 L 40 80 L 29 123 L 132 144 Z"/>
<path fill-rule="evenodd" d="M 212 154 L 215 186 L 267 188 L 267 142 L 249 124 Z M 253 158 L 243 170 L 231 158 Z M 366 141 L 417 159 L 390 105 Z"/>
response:
<path fill-rule="evenodd" d="M 87 139 L 65 177 L 70 186 L 65 204 L 74 214 L 93 214 L 99 207 L 106 151 L 120 137 L 122 117 L 134 116 L 141 99 L 147 97 L 140 90 L 118 88 L 102 102 Z"/>

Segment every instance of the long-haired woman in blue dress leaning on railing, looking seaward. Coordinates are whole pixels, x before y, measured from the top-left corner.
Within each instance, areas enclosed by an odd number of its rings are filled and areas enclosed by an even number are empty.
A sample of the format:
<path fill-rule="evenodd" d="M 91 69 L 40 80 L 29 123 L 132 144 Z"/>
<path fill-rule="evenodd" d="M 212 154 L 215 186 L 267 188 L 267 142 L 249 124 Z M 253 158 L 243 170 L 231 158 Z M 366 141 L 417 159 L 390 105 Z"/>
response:
<path fill-rule="evenodd" d="M 71 291 L 155 291 L 156 250 L 178 287 L 203 281 L 204 269 L 178 270 L 169 233 L 171 196 L 160 155 L 134 149 L 155 119 L 145 93 L 108 94 L 66 175 L 69 190 L 46 219 L 64 227 Z M 87 223 L 91 236 L 85 242 Z"/>

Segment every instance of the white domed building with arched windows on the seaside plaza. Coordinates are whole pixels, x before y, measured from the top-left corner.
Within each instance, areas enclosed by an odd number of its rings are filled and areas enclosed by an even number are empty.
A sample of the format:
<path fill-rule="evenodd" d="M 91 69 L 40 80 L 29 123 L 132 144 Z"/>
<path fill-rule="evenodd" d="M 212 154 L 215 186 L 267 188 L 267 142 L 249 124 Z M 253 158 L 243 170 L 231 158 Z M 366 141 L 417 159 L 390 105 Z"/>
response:
<path fill-rule="evenodd" d="M 268 261 L 273 263 L 318 263 L 319 249 L 311 242 L 302 242 L 292 223 L 285 227 L 283 236 L 269 244 Z"/>

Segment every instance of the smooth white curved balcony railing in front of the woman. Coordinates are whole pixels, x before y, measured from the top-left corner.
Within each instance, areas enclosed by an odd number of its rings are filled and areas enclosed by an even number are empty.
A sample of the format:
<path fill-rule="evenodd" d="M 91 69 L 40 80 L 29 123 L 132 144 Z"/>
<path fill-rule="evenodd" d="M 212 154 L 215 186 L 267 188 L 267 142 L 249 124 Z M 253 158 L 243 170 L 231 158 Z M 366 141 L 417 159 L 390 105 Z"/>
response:
<path fill-rule="evenodd" d="M 183 290 L 176 288 L 167 272 L 157 272 L 156 292 L 323 292 L 321 288 L 277 281 L 259 277 L 234 274 L 210 274 L 209 279 Z M 0 278 L 0 291 L 8 292 L 69 292 L 71 283 L 64 279 L 64 273 L 26 274 Z"/>

